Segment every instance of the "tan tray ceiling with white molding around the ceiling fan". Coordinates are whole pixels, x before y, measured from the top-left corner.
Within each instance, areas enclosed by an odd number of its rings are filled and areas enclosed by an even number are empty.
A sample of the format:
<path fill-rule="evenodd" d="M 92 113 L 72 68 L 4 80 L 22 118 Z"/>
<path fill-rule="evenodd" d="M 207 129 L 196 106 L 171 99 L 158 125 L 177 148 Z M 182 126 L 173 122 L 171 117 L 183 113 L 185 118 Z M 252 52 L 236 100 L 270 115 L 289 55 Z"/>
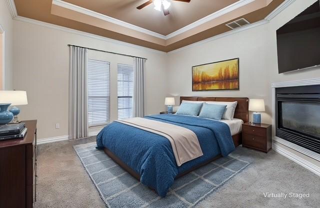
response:
<path fill-rule="evenodd" d="M 170 14 L 146 0 L 14 0 L 18 15 L 161 51 L 231 30 L 238 18 L 259 21 L 284 0 L 171 1 Z"/>

